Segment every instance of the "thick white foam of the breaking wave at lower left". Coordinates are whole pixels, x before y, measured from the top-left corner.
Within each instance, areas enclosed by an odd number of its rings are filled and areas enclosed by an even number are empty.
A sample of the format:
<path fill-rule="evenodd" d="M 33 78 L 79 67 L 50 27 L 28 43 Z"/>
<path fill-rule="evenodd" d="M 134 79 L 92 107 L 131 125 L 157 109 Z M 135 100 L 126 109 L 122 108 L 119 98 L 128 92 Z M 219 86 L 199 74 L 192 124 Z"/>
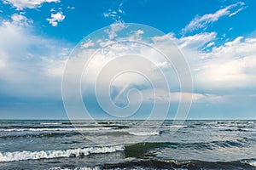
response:
<path fill-rule="evenodd" d="M 125 150 L 123 145 L 117 146 L 101 146 L 78 148 L 70 150 L 41 150 L 41 151 L 15 151 L 15 152 L 0 152 L 0 161 L 20 161 L 31 159 L 50 159 L 58 157 L 70 156 L 88 156 L 90 154 L 111 153 L 119 150 Z"/>

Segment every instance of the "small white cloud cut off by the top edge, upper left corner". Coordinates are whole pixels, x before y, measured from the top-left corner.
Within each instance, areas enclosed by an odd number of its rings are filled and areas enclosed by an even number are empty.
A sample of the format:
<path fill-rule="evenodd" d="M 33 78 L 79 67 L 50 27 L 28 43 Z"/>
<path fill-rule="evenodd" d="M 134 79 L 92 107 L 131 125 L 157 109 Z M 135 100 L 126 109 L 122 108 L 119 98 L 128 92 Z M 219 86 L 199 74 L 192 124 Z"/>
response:
<path fill-rule="evenodd" d="M 40 8 L 43 3 L 60 3 L 61 0 L 3 0 L 3 3 L 11 4 L 17 10 L 24 8 Z"/>

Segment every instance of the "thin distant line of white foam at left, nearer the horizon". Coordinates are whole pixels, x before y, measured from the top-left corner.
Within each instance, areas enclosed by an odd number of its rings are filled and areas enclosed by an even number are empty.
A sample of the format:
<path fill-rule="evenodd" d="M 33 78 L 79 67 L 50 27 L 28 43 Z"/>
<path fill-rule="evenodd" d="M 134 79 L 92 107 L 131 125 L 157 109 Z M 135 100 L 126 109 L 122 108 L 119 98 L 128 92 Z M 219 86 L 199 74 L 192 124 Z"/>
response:
<path fill-rule="evenodd" d="M 0 132 L 23 132 L 23 131 L 100 131 L 100 130 L 110 130 L 113 127 L 81 127 L 81 128 L 0 128 Z"/>

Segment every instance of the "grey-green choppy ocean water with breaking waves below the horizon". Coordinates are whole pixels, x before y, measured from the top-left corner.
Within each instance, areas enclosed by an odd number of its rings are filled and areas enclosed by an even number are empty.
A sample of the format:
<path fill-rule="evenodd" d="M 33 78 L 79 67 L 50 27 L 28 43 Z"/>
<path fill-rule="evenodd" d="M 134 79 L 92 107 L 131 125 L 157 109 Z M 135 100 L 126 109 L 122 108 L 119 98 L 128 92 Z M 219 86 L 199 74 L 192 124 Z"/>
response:
<path fill-rule="evenodd" d="M 0 169 L 256 169 L 256 121 L 0 121 Z"/>

